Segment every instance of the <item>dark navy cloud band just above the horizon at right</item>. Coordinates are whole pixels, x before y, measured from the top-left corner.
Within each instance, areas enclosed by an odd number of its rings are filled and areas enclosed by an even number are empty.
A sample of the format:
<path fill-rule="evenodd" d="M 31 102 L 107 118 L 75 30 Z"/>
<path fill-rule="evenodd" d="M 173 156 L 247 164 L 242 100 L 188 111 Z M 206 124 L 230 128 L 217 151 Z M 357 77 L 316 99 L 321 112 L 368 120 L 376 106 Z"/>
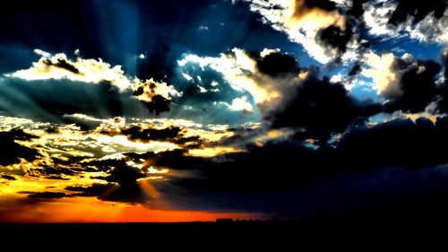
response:
<path fill-rule="evenodd" d="M 386 169 L 310 180 L 301 188 L 282 192 L 207 192 L 199 187 L 187 187 L 194 195 L 188 197 L 179 195 L 172 187 L 163 187 L 160 185 L 163 182 L 156 187 L 163 188 L 168 195 L 165 199 L 182 210 L 262 211 L 282 219 L 358 216 L 364 217 L 360 218 L 364 224 L 367 220 L 384 222 L 386 219 L 382 218 L 406 222 L 409 218 L 413 221 L 444 218 L 446 181 L 443 171 Z"/>

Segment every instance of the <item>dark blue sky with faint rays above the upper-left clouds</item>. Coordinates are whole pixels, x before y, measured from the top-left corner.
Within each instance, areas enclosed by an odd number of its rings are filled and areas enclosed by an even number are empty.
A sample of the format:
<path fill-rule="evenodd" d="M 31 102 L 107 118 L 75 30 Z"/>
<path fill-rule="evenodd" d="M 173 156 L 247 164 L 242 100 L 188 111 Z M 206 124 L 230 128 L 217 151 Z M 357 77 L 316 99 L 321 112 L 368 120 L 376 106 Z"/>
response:
<path fill-rule="evenodd" d="M 225 11 L 224 11 L 225 10 Z M 126 74 L 160 79 L 184 53 L 217 56 L 231 48 L 282 48 L 313 62 L 287 35 L 261 22 L 246 3 L 231 1 L 73 1 L 8 6 L 0 24 L 0 71 L 21 69 L 38 56 L 26 50 L 123 65 Z M 145 60 L 137 56 L 143 54 Z M 21 58 L 23 57 L 23 61 Z"/>

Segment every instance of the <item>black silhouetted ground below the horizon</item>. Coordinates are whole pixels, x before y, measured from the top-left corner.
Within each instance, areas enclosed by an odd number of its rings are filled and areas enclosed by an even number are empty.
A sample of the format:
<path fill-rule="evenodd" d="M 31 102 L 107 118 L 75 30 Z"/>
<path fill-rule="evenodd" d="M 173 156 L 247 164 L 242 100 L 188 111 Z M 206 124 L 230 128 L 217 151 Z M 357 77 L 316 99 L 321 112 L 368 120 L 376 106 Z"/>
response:
<path fill-rule="evenodd" d="M 22 240 L 23 245 L 57 247 L 63 244 L 64 248 L 140 248 L 160 245 L 170 248 L 205 244 L 221 248 L 244 244 L 248 248 L 269 247 L 277 248 L 274 251 L 289 251 L 291 249 L 286 248 L 291 246 L 328 248 L 349 245 L 364 250 L 391 246 L 409 248 L 415 244 L 424 246 L 425 251 L 434 251 L 428 249 L 428 246 L 448 247 L 448 222 L 431 219 L 430 216 L 418 221 L 359 218 L 224 223 L 0 223 L 0 233 L 0 241 L 4 244 L 18 239 Z"/>

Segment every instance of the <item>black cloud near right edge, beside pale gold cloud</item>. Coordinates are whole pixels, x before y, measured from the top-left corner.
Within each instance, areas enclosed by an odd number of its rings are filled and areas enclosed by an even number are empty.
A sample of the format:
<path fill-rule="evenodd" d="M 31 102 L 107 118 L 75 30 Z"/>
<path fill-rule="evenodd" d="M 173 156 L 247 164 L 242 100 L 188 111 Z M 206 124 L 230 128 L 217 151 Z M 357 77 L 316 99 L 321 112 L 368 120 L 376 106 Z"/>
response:
<path fill-rule="evenodd" d="M 418 113 L 425 110 L 439 92 L 435 77 L 440 70 L 441 66 L 433 60 L 396 58 L 392 71 L 398 74 L 398 80 L 382 92 L 388 100 L 385 111 Z"/>

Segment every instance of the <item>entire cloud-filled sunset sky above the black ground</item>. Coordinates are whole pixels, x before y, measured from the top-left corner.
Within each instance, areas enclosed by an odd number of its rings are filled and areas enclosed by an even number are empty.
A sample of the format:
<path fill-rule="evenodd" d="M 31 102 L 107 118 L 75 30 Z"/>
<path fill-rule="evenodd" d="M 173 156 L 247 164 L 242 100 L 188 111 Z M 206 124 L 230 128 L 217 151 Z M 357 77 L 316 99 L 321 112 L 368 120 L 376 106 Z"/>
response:
<path fill-rule="evenodd" d="M 8 4 L 0 222 L 444 216 L 447 6 Z"/>

